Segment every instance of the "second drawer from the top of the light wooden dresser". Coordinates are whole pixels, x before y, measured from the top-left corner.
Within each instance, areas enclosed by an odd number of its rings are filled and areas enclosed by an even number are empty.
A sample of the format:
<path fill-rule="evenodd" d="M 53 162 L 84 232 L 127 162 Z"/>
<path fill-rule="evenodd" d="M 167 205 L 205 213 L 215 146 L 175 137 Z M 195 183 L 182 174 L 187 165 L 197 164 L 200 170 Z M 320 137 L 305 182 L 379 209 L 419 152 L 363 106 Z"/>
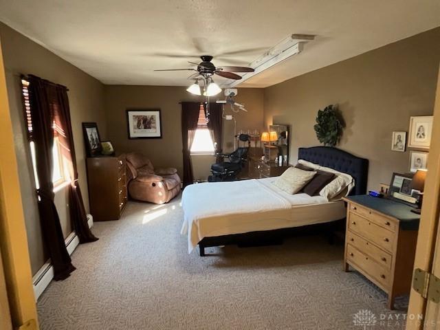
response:
<path fill-rule="evenodd" d="M 380 248 L 393 252 L 395 233 L 353 212 L 349 213 L 349 230 L 372 241 Z"/>

